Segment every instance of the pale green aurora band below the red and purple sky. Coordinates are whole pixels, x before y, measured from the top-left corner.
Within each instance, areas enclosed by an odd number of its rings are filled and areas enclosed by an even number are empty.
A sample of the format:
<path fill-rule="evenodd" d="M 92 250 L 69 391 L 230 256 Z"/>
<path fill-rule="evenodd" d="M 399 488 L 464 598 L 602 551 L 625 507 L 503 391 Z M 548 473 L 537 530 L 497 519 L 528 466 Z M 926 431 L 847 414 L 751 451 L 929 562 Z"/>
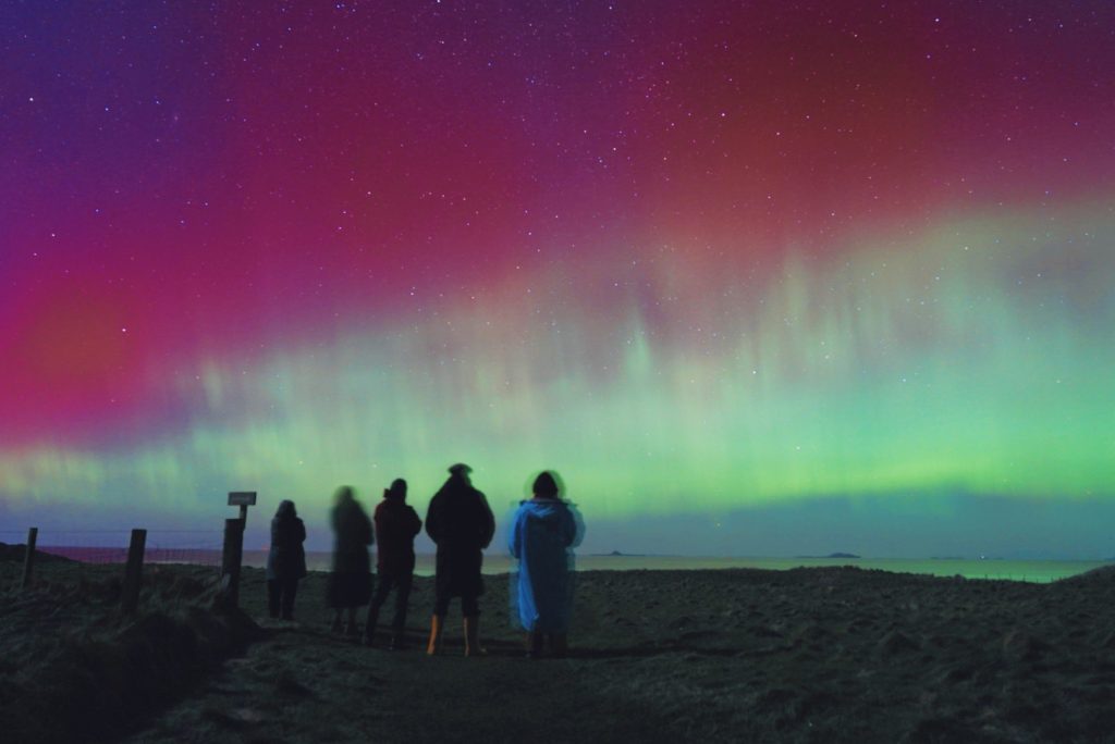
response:
<path fill-rule="evenodd" d="M 0 491 L 13 521 L 144 495 L 193 523 L 225 490 L 323 513 L 338 483 L 368 497 L 403 476 L 424 509 L 463 460 L 497 510 L 558 469 L 590 525 L 833 496 L 1115 495 L 1112 202 L 958 217 L 748 276 L 648 244 L 391 326 L 153 369 L 184 425 L 0 451 Z M 619 298 L 578 302 L 585 276 L 615 277 Z"/>

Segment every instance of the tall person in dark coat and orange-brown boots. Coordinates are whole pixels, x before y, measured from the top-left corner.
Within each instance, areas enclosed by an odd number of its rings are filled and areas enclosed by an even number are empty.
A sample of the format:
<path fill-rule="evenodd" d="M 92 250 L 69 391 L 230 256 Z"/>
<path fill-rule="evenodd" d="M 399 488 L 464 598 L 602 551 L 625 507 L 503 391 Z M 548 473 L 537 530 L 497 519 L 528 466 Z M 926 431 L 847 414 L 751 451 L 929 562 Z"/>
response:
<path fill-rule="evenodd" d="M 487 499 L 473 488 L 471 472 L 472 468 L 463 463 L 449 468 L 448 480 L 434 495 L 426 512 L 426 533 L 437 545 L 434 617 L 426 647 L 432 655 L 442 650 L 442 630 L 453 597 L 460 597 L 465 617 L 465 656 L 482 653 L 477 598 L 484 594 L 483 551 L 495 535 L 495 518 Z"/>

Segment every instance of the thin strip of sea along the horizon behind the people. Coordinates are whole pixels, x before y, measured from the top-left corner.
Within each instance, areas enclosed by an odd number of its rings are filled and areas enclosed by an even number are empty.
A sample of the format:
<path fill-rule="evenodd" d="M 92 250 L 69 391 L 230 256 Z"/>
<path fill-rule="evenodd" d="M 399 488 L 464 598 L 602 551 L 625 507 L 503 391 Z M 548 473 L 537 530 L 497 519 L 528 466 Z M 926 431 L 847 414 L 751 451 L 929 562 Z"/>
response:
<path fill-rule="evenodd" d="M 42 552 L 65 556 L 74 560 L 93 564 L 124 562 L 125 548 L 39 546 Z M 266 550 L 245 550 L 243 565 L 262 568 L 266 565 Z M 307 567 L 311 571 L 328 571 L 332 557 L 326 551 L 308 551 Z M 165 549 L 148 547 L 146 564 L 194 564 L 220 566 L 221 551 L 215 549 Z M 484 557 L 484 572 L 507 574 L 515 570 L 515 560 L 505 554 L 488 554 Z M 788 570 L 792 568 L 817 568 L 854 566 L 863 569 L 879 569 L 896 574 L 928 574 L 931 576 L 962 576 L 966 579 L 1007 579 L 1012 581 L 1049 583 L 1076 576 L 1102 566 L 1111 566 L 1108 560 L 1008 560 L 998 558 L 856 558 L 856 557 L 797 557 L 797 558 L 739 558 L 739 557 L 694 557 L 659 555 L 578 555 L 574 567 L 579 571 L 656 571 L 656 570 L 705 570 L 718 568 L 760 568 L 766 570 Z M 415 566 L 418 576 L 434 575 L 433 554 L 419 554 Z"/>

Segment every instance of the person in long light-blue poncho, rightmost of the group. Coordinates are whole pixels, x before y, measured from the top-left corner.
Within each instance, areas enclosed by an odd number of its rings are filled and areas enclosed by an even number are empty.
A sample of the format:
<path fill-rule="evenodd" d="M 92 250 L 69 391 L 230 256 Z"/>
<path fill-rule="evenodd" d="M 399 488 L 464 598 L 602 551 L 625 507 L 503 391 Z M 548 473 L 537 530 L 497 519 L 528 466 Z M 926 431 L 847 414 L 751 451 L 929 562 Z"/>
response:
<path fill-rule="evenodd" d="M 542 654 L 544 637 L 550 653 L 566 649 L 573 600 L 572 546 L 578 537 L 573 509 L 559 498 L 558 481 L 543 471 L 534 479 L 534 498 L 523 501 L 512 520 L 507 548 L 518 559 L 517 586 L 512 600 L 526 630 L 526 655 Z"/>

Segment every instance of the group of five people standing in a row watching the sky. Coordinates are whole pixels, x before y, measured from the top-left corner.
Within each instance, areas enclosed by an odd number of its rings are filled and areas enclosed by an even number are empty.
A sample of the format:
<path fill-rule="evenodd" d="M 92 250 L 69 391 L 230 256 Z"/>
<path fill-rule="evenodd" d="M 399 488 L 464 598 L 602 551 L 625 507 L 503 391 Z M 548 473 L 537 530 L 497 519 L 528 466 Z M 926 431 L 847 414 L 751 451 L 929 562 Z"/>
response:
<path fill-rule="evenodd" d="M 426 653 L 442 653 L 442 636 L 453 599 L 460 599 L 464 617 L 465 656 L 484 653 L 479 644 L 479 598 L 484 550 L 495 536 L 496 525 L 487 498 L 471 478 L 472 468 L 457 463 L 430 499 L 426 511 L 426 533 L 437 547 L 434 577 L 434 611 Z M 534 479 L 532 498 L 520 503 L 507 530 L 507 549 L 518 559 L 511 587 L 512 603 L 525 632 L 526 656 L 536 658 L 545 649 L 561 656 L 568 649 L 572 604 L 571 549 L 579 525 L 571 506 L 562 500 L 559 481 L 543 471 Z M 337 489 L 330 512 L 333 531 L 332 567 L 327 601 L 333 610 L 331 630 L 378 644 L 379 613 L 395 593 L 395 613 L 386 648 L 405 647 L 407 607 L 415 569 L 415 537 L 423 520 L 407 505 L 407 482 L 397 478 L 384 490 L 384 499 L 369 519 L 353 489 Z M 268 609 L 273 618 L 293 619 L 298 583 L 307 575 L 306 527 L 294 503 L 279 505 L 271 520 L 268 554 Z M 376 574 L 371 572 L 369 547 L 376 546 Z M 368 614 L 361 636 L 359 608 Z"/>

